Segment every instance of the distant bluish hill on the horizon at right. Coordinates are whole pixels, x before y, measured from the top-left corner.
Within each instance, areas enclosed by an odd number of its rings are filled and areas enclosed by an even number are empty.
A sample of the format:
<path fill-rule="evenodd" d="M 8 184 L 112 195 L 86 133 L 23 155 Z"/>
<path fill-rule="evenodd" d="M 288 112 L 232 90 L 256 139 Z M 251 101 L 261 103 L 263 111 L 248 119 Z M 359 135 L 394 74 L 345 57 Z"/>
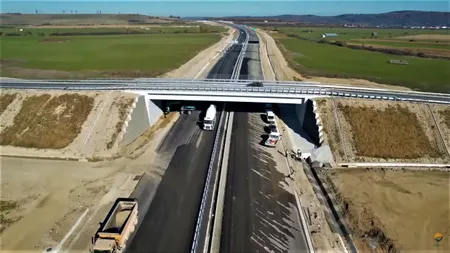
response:
<path fill-rule="evenodd" d="M 450 26 L 450 12 L 394 11 L 381 14 L 343 14 L 338 16 L 279 15 L 213 18 L 215 20 L 301 22 L 309 24 L 360 24 L 371 26 Z"/>

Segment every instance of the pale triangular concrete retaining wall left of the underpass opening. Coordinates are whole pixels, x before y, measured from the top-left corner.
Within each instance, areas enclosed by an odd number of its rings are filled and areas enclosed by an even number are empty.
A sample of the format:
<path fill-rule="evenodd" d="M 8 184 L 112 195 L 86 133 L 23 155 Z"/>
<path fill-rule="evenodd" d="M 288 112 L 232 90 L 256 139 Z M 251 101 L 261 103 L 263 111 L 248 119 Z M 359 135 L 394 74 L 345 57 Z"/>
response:
<path fill-rule="evenodd" d="M 136 98 L 132 111 L 124 122 L 124 130 L 119 136 L 119 146 L 123 147 L 141 136 L 163 115 L 160 101 L 151 101 L 147 95 Z"/>

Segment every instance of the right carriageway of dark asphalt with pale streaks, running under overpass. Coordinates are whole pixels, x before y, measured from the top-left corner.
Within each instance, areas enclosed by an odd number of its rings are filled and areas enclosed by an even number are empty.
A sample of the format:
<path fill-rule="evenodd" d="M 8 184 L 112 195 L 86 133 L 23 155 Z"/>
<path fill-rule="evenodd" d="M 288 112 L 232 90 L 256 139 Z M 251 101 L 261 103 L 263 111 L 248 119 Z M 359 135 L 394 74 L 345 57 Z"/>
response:
<path fill-rule="evenodd" d="M 263 77 L 258 47 L 248 45 L 241 77 Z M 276 162 L 276 151 L 260 145 L 264 104 L 229 106 L 234 121 L 220 252 L 306 252 L 295 196 L 284 187 L 287 168 Z"/>

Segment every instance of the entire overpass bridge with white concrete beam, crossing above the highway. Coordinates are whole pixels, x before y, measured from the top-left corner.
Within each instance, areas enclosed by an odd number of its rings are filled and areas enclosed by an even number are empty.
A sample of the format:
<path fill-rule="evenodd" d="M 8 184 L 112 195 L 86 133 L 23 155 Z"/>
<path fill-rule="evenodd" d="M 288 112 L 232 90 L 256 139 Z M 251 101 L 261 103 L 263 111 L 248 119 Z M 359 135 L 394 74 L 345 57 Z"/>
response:
<path fill-rule="evenodd" d="M 262 86 L 255 87 L 258 82 Z M 360 88 L 317 82 L 236 79 L 2 79 L 2 89 L 123 90 L 145 94 L 155 100 L 303 103 L 317 97 L 347 97 L 421 103 L 450 104 L 450 94 Z"/>

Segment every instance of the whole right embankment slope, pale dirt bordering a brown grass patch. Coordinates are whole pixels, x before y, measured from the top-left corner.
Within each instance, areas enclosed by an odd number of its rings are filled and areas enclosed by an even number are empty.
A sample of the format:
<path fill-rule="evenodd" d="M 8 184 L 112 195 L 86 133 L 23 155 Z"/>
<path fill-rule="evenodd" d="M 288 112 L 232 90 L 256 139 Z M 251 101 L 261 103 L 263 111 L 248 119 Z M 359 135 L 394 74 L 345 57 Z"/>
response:
<path fill-rule="evenodd" d="M 337 162 L 450 161 L 448 128 L 436 111 L 441 106 L 326 99 L 319 108 Z"/>

